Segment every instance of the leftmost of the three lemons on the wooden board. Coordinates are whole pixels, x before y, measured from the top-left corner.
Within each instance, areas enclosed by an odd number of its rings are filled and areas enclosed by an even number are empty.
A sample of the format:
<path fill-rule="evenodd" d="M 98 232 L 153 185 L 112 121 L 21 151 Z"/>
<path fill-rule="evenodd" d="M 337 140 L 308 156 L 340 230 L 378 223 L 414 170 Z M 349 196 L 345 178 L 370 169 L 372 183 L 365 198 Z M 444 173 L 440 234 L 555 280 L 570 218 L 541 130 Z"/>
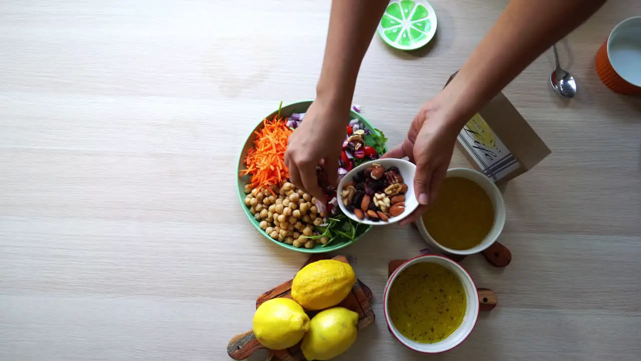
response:
<path fill-rule="evenodd" d="M 310 328 L 310 317 L 300 304 L 287 298 L 274 298 L 254 313 L 254 335 L 269 349 L 296 345 Z"/>

